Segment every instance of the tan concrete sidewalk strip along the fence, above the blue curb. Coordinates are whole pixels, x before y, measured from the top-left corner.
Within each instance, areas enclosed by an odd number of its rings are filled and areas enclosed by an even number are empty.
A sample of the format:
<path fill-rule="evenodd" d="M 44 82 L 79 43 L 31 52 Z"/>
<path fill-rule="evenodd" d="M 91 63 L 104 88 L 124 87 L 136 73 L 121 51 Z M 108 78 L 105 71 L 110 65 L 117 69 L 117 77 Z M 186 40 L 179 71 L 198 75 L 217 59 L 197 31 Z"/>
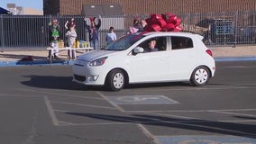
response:
<path fill-rule="evenodd" d="M 215 47 L 209 49 L 212 50 L 214 58 L 256 58 L 256 46 Z M 17 62 L 28 56 L 32 56 L 33 61 L 48 61 L 48 50 L 0 51 L 0 62 Z M 59 52 L 59 60 L 67 60 L 67 50 Z"/>

